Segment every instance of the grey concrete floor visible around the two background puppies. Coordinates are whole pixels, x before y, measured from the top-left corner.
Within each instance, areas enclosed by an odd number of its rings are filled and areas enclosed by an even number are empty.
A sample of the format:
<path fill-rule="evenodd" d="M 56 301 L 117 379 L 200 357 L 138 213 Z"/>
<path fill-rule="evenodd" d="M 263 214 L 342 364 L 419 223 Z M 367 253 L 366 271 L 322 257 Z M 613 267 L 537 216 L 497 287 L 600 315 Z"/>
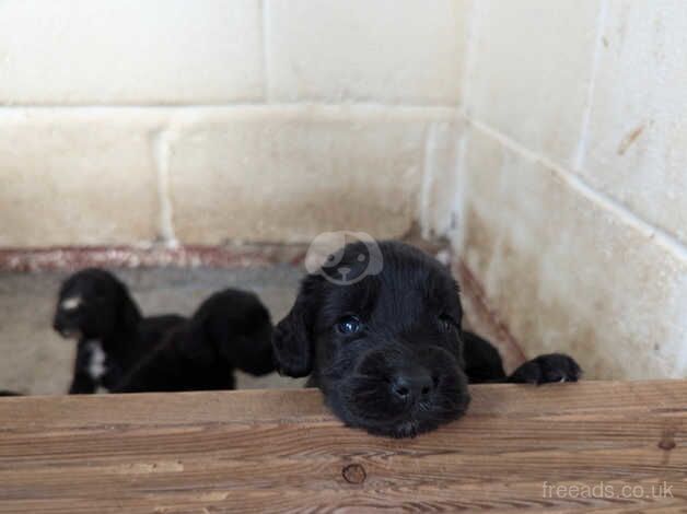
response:
<path fill-rule="evenodd" d="M 214 291 L 241 288 L 256 292 L 279 320 L 293 303 L 302 267 L 158 268 L 113 270 L 131 290 L 145 315 L 189 315 Z M 0 389 L 33 395 L 62 394 L 69 386 L 75 344 L 50 327 L 66 271 L 0 272 Z M 238 376 L 240 388 L 301 387 L 303 381 Z"/>

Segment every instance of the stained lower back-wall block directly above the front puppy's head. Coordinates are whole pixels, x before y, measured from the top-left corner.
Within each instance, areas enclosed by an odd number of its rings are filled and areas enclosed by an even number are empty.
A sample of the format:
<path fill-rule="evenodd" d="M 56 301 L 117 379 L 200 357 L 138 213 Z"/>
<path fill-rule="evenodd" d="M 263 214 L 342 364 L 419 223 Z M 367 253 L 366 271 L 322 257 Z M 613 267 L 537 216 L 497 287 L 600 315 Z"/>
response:
<path fill-rule="evenodd" d="M 435 117 L 365 107 L 209 112 L 184 124 L 171 149 L 177 236 L 220 244 L 307 242 L 333 230 L 403 235 L 417 213 Z"/>

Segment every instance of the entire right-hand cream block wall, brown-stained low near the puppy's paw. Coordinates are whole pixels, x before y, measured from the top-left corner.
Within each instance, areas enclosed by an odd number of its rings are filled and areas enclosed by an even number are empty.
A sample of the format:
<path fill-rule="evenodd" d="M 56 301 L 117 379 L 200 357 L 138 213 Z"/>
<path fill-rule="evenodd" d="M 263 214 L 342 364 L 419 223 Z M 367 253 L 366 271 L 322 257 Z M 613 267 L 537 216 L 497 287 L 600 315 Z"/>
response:
<path fill-rule="evenodd" d="M 459 259 L 529 355 L 685 376 L 685 10 L 485 0 L 468 24 Z"/>

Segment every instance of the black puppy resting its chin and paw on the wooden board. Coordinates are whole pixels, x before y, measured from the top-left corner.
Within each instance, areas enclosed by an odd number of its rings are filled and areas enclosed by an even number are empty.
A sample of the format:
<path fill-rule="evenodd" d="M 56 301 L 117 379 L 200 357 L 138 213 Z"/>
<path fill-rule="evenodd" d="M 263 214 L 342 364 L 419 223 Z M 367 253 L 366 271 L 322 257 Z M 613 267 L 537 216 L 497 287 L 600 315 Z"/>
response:
<path fill-rule="evenodd" d="M 381 262 L 370 262 L 364 244 L 350 244 L 327 260 L 334 266 L 308 274 L 272 339 L 281 372 L 310 375 L 348 425 L 414 436 L 466 411 L 468 381 L 578 379 L 580 367 L 561 354 L 506 377 L 496 349 L 462 331 L 458 288 L 446 268 L 403 243 L 379 249 Z M 381 271 L 366 273 L 371 265 Z"/>

